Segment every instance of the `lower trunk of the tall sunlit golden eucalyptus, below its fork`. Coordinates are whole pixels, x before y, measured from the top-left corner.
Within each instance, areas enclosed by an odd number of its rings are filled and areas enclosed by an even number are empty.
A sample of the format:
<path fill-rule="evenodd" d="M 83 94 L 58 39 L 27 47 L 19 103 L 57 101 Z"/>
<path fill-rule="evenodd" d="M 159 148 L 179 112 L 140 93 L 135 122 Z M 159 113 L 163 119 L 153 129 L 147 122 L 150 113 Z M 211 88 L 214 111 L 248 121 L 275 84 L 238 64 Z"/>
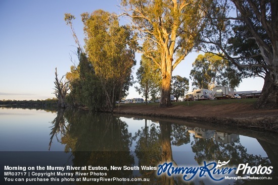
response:
<path fill-rule="evenodd" d="M 172 69 L 170 70 L 171 71 L 168 70 L 169 72 L 166 71 L 162 75 L 161 99 L 159 104 L 160 108 L 171 106 L 170 88 L 171 88 Z"/>

